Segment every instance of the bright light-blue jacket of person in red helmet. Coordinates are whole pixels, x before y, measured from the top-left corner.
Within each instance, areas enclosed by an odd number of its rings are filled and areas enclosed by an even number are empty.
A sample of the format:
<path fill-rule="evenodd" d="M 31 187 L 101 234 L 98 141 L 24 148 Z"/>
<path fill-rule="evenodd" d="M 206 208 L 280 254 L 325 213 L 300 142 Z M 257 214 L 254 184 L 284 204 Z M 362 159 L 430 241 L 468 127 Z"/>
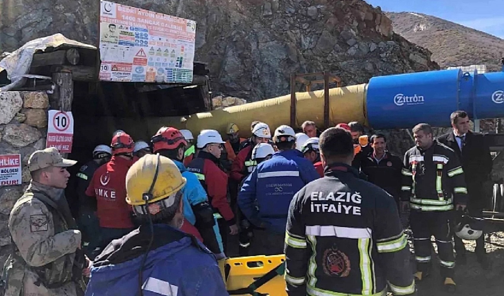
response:
<path fill-rule="evenodd" d="M 198 177 L 194 173 L 187 171 L 181 162 L 175 160 L 173 162 L 177 165 L 182 177 L 187 180 L 187 183 L 185 183 L 185 186 L 182 187 L 181 190 L 183 195 L 182 200 L 184 202 L 184 217 L 189 223 L 194 225 L 196 223 L 196 216 L 191 206 L 208 201 L 207 192 L 203 186 L 201 186 L 200 180 L 198 180 Z"/>

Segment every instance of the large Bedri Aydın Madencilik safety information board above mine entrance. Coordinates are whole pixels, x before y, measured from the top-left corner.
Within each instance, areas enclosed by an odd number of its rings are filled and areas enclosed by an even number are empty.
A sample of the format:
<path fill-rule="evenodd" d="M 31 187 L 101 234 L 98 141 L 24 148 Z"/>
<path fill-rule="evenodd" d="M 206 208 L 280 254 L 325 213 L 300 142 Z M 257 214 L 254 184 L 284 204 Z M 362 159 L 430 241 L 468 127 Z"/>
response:
<path fill-rule="evenodd" d="M 100 1 L 99 78 L 191 83 L 195 40 L 195 21 Z"/>

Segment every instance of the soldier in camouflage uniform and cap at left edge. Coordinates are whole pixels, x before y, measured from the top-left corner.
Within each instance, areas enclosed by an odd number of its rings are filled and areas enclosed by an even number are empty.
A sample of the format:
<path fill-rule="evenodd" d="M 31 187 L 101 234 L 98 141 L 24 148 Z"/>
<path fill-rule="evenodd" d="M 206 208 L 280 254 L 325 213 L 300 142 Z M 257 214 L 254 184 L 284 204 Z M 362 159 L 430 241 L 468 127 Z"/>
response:
<path fill-rule="evenodd" d="M 61 158 L 53 147 L 30 156 L 32 181 L 9 217 L 14 250 L 4 268 L 5 295 L 83 293 L 83 287 L 76 284 L 82 284 L 82 280 L 76 278 L 82 279 L 82 274 L 89 270 L 75 271 L 81 232 L 71 229 L 75 228 L 75 220 L 63 194 L 70 176 L 66 167 L 75 163 Z M 85 261 L 89 265 L 87 258 Z"/>

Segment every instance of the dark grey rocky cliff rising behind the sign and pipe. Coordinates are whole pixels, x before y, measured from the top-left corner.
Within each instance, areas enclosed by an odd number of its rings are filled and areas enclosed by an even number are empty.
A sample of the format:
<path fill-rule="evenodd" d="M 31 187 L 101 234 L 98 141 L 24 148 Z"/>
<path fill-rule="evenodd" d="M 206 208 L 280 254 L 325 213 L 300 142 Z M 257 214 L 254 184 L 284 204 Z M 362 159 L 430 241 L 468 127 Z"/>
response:
<path fill-rule="evenodd" d="M 437 68 L 430 53 L 394 34 L 362 0 L 117 0 L 196 20 L 196 60 L 209 63 L 214 94 L 260 100 L 289 92 L 295 72 L 329 70 L 345 85 L 376 75 Z M 99 1 L 8 1 L 0 52 L 60 32 L 97 43 Z"/>

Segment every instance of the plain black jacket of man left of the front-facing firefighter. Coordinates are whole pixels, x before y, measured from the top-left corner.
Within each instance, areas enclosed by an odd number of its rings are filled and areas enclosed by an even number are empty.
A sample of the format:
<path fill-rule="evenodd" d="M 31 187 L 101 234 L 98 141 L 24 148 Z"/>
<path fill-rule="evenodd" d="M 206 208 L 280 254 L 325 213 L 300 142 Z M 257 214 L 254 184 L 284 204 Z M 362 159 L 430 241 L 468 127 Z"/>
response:
<path fill-rule="evenodd" d="M 366 174 L 367 181 L 387 191 L 396 201 L 401 199 L 402 168 L 403 161 L 389 152 L 385 152 L 380 160 L 376 160 L 371 152 L 360 162 L 360 169 Z"/>

